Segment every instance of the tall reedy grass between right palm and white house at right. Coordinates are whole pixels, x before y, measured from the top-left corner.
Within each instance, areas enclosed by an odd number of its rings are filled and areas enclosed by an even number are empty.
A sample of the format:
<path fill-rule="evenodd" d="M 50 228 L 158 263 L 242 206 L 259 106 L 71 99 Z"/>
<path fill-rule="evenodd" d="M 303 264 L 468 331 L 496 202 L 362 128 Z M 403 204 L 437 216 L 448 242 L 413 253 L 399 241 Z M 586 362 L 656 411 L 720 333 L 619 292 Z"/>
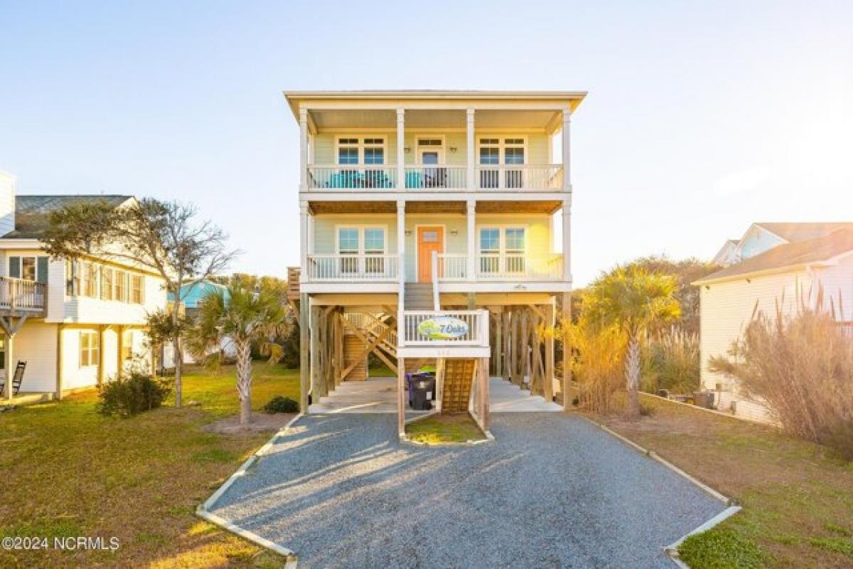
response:
<path fill-rule="evenodd" d="M 650 334 L 642 343 L 641 364 L 644 392 L 692 393 L 699 389 L 699 335 L 675 326 Z"/>

